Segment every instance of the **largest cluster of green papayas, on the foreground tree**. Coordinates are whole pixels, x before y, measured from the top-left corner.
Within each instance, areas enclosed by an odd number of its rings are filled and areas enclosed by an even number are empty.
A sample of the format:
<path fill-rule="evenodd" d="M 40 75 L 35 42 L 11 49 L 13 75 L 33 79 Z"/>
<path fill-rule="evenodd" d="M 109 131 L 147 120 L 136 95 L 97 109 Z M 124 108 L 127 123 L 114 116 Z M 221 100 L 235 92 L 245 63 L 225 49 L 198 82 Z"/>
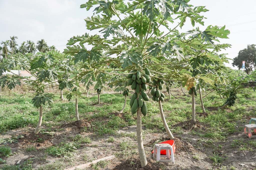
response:
<path fill-rule="evenodd" d="M 146 93 L 147 90 L 147 84 L 151 82 L 150 78 L 150 71 L 146 68 L 145 74 L 142 75 L 141 70 L 133 70 L 131 71 L 133 74 L 129 74 L 127 76 L 128 85 L 131 85 L 131 89 L 133 89 L 135 92 L 131 97 L 130 100 L 130 107 L 132 114 L 135 114 L 138 110 L 138 108 L 141 108 L 141 113 L 146 116 L 147 114 L 147 106 L 145 101 L 148 101 L 149 97 Z M 144 100 L 144 101 L 143 101 Z"/>

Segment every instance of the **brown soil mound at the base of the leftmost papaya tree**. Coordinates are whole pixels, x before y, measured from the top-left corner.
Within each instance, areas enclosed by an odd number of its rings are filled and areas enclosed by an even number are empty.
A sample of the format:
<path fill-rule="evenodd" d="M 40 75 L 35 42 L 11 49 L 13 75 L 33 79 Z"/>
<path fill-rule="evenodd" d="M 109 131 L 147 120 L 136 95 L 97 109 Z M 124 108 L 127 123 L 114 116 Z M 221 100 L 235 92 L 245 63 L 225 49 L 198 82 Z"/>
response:
<path fill-rule="evenodd" d="M 43 146 L 52 146 L 52 136 L 44 135 L 41 133 L 34 134 L 34 132 L 23 132 L 21 134 L 24 138 L 19 138 L 19 142 L 22 144 L 22 148 L 26 146 L 35 146 L 35 147 L 43 147 Z"/>

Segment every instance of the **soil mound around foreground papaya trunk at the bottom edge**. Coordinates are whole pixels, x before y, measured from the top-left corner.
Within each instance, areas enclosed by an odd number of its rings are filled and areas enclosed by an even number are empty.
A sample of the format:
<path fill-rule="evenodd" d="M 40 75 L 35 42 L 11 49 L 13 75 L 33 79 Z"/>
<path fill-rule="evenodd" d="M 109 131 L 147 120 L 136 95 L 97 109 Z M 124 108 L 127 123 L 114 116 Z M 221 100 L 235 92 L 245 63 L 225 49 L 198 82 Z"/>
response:
<path fill-rule="evenodd" d="M 147 165 L 141 168 L 141 162 L 139 159 L 137 160 L 125 160 L 122 161 L 121 164 L 115 166 L 112 170 L 163 170 L 160 163 L 157 163 L 153 161 L 151 158 L 148 160 Z M 169 170 L 169 168 L 165 167 L 165 170 Z"/>

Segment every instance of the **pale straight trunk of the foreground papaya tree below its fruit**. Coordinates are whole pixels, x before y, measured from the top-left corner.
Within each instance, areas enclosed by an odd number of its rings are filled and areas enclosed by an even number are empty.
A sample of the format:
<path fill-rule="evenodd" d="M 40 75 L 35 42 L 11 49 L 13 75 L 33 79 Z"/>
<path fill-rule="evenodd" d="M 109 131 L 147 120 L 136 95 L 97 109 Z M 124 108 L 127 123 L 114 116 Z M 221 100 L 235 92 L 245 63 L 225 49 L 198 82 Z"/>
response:
<path fill-rule="evenodd" d="M 142 128 L 141 128 L 141 108 L 137 110 L 137 144 L 140 155 L 141 167 L 147 165 L 147 159 L 143 147 L 143 139 L 142 139 Z"/>

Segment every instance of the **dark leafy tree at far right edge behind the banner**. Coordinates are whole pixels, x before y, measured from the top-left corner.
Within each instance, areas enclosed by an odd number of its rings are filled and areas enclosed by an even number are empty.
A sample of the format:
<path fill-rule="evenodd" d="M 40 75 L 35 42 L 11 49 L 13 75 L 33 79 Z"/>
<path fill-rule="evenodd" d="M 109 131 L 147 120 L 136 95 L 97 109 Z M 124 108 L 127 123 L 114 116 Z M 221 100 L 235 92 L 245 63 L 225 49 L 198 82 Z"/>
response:
<path fill-rule="evenodd" d="M 238 56 L 233 59 L 232 66 L 242 68 L 242 61 L 245 61 L 245 72 L 248 74 L 256 68 L 256 48 L 255 45 L 248 45 L 239 51 Z"/>

